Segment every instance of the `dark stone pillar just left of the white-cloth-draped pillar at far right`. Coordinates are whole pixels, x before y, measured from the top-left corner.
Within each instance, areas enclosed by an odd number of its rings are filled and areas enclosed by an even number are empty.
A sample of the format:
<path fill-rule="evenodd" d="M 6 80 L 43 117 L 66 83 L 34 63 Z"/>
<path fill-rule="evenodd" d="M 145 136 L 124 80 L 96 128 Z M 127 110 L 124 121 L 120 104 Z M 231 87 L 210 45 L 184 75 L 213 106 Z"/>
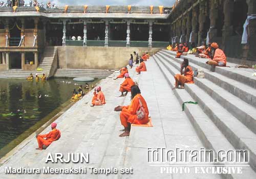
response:
<path fill-rule="evenodd" d="M 228 36 L 232 35 L 232 29 L 231 26 L 231 16 L 233 14 L 233 5 L 234 2 L 232 0 L 225 0 L 224 1 L 224 25 L 223 25 L 223 33 L 222 33 L 222 50 L 225 50 L 225 42 L 227 40 Z"/>

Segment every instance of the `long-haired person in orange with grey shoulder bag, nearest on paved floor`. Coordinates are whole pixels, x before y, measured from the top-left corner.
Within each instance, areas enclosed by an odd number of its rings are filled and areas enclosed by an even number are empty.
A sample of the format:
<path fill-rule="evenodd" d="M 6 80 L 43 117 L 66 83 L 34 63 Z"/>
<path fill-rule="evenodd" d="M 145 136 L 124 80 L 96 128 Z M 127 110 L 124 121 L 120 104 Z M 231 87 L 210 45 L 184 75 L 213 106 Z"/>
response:
<path fill-rule="evenodd" d="M 130 136 L 131 124 L 146 124 L 148 123 L 148 108 L 145 99 L 140 94 L 140 89 L 137 85 L 131 88 L 132 102 L 129 106 L 117 106 L 115 111 L 121 111 L 120 121 L 124 127 L 124 132 L 119 137 Z M 137 111 L 143 107 L 143 115 L 138 116 Z"/>

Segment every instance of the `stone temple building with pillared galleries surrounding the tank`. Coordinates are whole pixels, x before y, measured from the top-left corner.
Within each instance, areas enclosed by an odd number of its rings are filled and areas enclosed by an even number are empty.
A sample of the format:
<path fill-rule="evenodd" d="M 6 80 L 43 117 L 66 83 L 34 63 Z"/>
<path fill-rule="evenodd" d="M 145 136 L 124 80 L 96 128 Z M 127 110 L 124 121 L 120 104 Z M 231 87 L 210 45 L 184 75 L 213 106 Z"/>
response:
<path fill-rule="evenodd" d="M 173 7 L 0 7 L 0 71 L 39 68 L 53 76 L 57 69 L 113 70 L 134 51 L 154 53 L 169 43 L 198 46 L 201 41 L 216 41 L 229 58 L 251 62 L 256 57 L 253 14 L 255 0 L 180 0 Z"/>

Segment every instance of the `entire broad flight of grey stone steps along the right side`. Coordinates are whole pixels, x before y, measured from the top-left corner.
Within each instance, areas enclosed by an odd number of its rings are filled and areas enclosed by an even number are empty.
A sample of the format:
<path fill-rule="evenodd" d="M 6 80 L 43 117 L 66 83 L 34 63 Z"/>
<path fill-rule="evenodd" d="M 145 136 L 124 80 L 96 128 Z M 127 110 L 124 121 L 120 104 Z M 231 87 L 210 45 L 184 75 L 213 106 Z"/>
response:
<path fill-rule="evenodd" d="M 205 78 L 194 78 L 195 84 L 175 89 L 181 104 L 198 102 L 198 105 L 186 104 L 185 113 L 199 138 L 207 148 L 217 152 L 248 150 L 250 167 L 245 167 L 243 175 L 231 174 L 230 178 L 256 178 L 256 78 L 249 71 L 234 68 L 233 63 L 227 63 L 231 68 L 216 67 L 211 72 L 205 63 L 207 59 L 175 56 L 176 53 L 166 50 L 153 56 L 171 87 L 175 84 L 175 74 L 180 73 L 182 58 L 188 58 L 193 70 L 203 69 L 205 73 Z"/>

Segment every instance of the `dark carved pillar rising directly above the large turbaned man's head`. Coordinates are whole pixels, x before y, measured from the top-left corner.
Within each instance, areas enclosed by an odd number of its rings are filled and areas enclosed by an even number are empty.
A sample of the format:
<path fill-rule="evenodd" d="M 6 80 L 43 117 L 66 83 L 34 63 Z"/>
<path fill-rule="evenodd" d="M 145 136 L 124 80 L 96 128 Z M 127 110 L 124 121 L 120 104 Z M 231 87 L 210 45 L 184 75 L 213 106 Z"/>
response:
<path fill-rule="evenodd" d="M 218 2 L 210 0 L 210 29 L 209 29 L 209 42 L 214 42 L 217 36 L 216 20 L 218 18 Z"/>

